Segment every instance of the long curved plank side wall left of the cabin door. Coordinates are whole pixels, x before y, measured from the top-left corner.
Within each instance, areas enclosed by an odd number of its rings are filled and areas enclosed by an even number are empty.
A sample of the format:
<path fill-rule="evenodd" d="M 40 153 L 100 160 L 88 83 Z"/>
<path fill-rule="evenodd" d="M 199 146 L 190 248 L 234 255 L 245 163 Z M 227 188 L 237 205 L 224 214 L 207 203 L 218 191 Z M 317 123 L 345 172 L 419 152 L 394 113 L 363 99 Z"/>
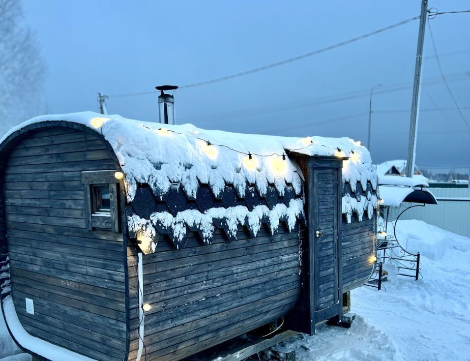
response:
<path fill-rule="evenodd" d="M 256 238 L 240 229 L 228 241 L 219 231 L 211 245 L 195 234 L 185 249 L 167 241 L 143 256 L 143 302 L 147 360 L 179 360 L 285 316 L 300 294 L 299 229 L 280 226 Z M 138 349 L 135 251 L 129 249 L 131 345 Z M 134 277 L 133 277 L 134 276 Z"/>

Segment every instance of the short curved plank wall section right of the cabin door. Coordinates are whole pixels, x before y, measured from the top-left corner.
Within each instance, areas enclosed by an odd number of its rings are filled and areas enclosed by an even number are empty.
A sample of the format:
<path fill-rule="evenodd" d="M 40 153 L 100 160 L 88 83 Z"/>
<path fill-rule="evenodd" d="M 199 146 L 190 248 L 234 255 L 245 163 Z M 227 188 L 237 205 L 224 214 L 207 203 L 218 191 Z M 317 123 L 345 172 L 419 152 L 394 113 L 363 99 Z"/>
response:
<path fill-rule="evenodd" d="M 343 293 L 362 286 L 369 279 L 374 266 L 371 256 L 374 252 L 374 219 L 364 215 L 362 222 L 356 215 L 347 223 L 342 221 L 342 281 Z"/>

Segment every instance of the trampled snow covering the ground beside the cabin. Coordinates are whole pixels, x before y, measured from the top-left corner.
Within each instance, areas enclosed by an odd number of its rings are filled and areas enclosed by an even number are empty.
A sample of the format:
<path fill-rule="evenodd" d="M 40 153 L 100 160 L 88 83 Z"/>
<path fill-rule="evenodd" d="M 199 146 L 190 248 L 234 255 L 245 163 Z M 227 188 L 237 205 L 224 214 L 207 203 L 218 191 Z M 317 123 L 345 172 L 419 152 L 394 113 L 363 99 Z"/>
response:
<path fill-rule="evenodd" d="M 422 253 L 422 279 L 392 275 L 386 290 L 360 287 L 351 328 L 322 325 L 282 346 L 303 361 L 470 360 L 470 238 L 416 220 L 400 221 L 397 236 Z M 0 319 L 0 361 L 31 359 L 19 352 Z"/>

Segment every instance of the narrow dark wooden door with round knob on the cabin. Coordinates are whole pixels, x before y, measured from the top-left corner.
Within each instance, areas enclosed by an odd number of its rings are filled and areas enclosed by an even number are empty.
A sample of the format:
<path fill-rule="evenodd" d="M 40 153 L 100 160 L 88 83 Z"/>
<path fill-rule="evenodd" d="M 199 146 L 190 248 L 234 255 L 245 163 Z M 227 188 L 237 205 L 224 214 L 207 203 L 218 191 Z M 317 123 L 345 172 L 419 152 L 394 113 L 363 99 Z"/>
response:
<path fill-rule="evenodd" d="M 320 322 L 341 316 L 339 168 L 313 168 L 314 312 Z"/>

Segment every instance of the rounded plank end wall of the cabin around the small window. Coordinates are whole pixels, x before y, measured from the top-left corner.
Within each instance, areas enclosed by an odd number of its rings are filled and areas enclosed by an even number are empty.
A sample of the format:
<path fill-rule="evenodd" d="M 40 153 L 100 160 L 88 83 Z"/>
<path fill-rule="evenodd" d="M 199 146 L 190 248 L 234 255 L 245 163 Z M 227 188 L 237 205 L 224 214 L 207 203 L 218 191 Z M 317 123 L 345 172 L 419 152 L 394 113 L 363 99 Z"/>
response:
<path fill-rule="evenodd" d="M 98 137 L 41 130 L 12 151 L 4 196 L 12 296 L 30 334 L 100 360 L 126 349 L 122 233 L 87 231 L 80 172 L 116 169 Z M 35 314 L 26 313 L 25 297 Z"/>

